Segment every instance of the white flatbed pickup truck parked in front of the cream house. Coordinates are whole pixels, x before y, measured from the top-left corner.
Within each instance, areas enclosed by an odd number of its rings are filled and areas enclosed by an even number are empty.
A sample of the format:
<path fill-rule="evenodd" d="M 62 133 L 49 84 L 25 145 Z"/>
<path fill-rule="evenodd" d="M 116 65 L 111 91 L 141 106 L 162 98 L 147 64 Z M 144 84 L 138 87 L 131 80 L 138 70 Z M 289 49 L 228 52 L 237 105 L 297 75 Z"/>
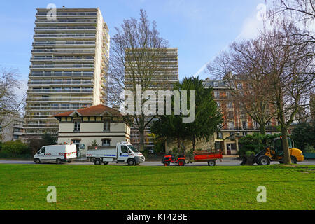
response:
<path fill-rule="evenodd" d="M 145 162 L 146 158 L 137 148 L 127 142 L 118 142 L 115 146 L 99 146 L 93 150 L 87 150 L 86 157 L 94 165 L 108 165 L 109 162 L 127 163 L 127 165 L 135 166 L 140 162 Z"/>

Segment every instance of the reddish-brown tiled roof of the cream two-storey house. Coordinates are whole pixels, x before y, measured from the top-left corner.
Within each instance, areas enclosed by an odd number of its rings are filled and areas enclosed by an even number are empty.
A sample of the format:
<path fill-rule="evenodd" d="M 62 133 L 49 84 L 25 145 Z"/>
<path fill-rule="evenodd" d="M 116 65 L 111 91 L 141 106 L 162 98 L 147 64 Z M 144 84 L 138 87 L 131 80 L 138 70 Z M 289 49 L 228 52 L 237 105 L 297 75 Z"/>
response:
<path fill-rule="evenodd" d="M 58 113 L 53 117 L 55 117 L 55 118 L 69 117 L 69 116 L 73 116 L 74 113 L 78 113 L 79 116 L 85 116 L 85 117 L 88 117 L 88 116 L 123 116 L 123 114 L 120 113 L 120 111 L 113 109 L 109 106 L 99 104 L 97 106 L 90 106 L 90 107 L 78 109 L 75 111 Z"/>

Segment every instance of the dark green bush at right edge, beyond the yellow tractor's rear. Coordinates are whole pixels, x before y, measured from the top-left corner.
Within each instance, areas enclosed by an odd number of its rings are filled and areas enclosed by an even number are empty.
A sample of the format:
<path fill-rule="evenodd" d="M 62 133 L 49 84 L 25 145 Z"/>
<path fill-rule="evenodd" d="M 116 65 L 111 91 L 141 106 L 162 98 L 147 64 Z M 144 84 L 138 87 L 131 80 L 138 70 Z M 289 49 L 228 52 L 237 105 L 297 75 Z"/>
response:
<path fill-rule="evenodd" d="M 295 147 L 304 151 L 307 144 L 315 148 L 315 124 L 300 123 L 292 131 Z"/>

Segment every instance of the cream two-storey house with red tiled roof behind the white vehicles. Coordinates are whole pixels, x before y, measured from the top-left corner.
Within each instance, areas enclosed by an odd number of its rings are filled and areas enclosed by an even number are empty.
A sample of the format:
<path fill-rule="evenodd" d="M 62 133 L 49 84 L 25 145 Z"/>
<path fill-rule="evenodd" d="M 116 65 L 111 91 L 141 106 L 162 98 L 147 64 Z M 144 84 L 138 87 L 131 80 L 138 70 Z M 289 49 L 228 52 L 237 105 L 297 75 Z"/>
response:
<path fill-rule="evenodd" d="M 58 144 L 76 144 L 78 155 L 85 156 L 88 146 L 116 146 L 130 142 L 130 126 L 120 111 L 102 104 L 75 111 L 58 113 Z"/>

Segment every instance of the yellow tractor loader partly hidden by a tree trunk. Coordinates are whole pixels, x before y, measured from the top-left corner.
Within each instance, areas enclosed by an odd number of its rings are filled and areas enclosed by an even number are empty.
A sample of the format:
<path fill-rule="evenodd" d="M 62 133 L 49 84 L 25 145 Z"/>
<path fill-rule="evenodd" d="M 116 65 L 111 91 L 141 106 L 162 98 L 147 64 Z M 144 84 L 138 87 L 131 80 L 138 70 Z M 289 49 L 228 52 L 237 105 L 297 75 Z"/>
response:
<path fill-rule="evenodd" d="M 304 160 L 302 151 L 300 151 L 298 148 L 294 148 L 293 141 L 289 137 L 288 146 L 292 163 L 297 163 Z M 283 163 L 283 146 L 281 137 L 272 139 L 269 147 L 257 153 L 255 155 L 254 163 L 257 163 L 258 165 L 269 165 L 271 161 Z"/>

